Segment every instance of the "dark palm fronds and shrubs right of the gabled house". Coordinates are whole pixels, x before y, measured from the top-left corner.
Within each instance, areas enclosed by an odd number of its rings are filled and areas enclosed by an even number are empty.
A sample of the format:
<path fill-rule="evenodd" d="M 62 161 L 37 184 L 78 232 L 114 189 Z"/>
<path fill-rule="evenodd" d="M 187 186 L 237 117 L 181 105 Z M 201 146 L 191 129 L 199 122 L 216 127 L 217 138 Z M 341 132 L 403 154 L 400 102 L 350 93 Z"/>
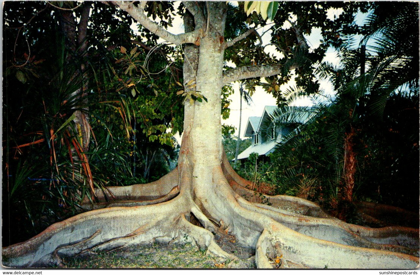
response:
<path fill-rule="evenodd" d="M 270 165 L 260 165 L 260 181 L 352 222 L 353 200 L 417 209 L 419 42 L 418 29 L 407 28 L 412 25 L 418 25 L 412 3 L 374 3 L 360 48 L 354 37 L 344 37 L 337 48 L 341 64 L 323 62 L 316 69 L 330 79 L 335 98 L 315 94 L 314 107 L 283 106 L 275 115 L 278 126 L 310 119 L 278 146 Z M 285 103 L 304 90 L 287 91 Z"/>

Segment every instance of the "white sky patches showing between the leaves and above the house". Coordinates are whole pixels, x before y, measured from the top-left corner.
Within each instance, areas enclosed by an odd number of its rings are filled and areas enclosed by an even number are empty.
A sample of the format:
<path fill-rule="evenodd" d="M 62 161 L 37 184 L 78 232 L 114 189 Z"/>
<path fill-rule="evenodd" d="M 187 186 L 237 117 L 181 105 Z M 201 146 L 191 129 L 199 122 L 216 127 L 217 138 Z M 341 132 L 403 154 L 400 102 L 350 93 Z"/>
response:
<path fill-rule="evenodd" d="M 177 7 L 175 7 L 175 10 Z M 334 17 L 337 18 L 340 16 L 340 14 L 343 12 L 341 9 L 329 9 L 327 12 L 328 19 L 334 20 Z M 362 25 L 362 22 L 365 19 L 365 14 L 358 14 L 356 17 L 356 23 L 358 25 Z M 295 16 L 292 17 L 292 21 L 295 20 Z M 176 16 L 176 18 L 172 22 L 173 26 L 169 27 L 168 30 L 174 34 L 179 34 L 184 32 L 184 23 L 180 16 Z M 136 29 L 136 24 L 132 24 L 131 27 L 133 29 Z M 284 24 L 283 28 L 289 28 L 290 25 Z M 264 29 L 258 30 L 260 34 L 264 32 Z M 312 29 L 310 36 L 305 36 L 305 38 L 308 41 L 308 44 L 310 45 L 310 48 L 318 48 L 320 45 L 320 40 L 322 39 L 322 36 L 320 34 L 320 29 Z M 263 45 L 269 43 L 270 41 L 270 32 L 267 32 L 263 37 Z M 163 40 L 158 40 L 158 42 L 163 42 Z M 274 47 L 270 48 L 271 46 L 268 46 L 266 50 L 269 50 L 270 53 L 274 53 Z M 276 54 L 275 54 L 276 55 Z M 329 49 L 327 50 L 327 53 L 325 55 L 324 60 L 328 60 L 333 63 L 338 63 L 336 53 Z M 334 91 L 332 89 L 332 86 L 327 81 L 321 81 L 321 89 L 325 91 L 327 94 L 333 94 Z M 294 79 L 291 79 L 287 85 L 281 85 L 280 90 L 285 91 L 288 87 L 294 86 L 295 82 Z M 222 119 L 222 123 L 226 125 L 233 125 L 236 127 L 235 135 L 238 135 L 238 129 L 239 129 L 239 84 L 233 83 L 234 87 L 234 93 L 229 96 L 228 99 L 232 100 L 230 104 L 230 116 L 228 119 Z M 274 106 L 276 104 L 276 98 L 273 98 L 271 94 L 266 93 L 261 87 L 256 87 L 256 91 L 254 95 L 252 95 L 252 103 L 250 106 L 247 105 L 244 101 L 242 102 L 242 120 L 241 120 L 241 138 L 243 138 L 243 134 L 245 131 L 245 126 L 247 124 L 249 116 L 261 116 L 262 111 L 264 110 L 265 106 Z M 301 98 L 297 102 L 294 102 L 292 105 L 294 106 L 310 106 L 311 103 L 309 100 Z M 178 143 L 181 144 L 181 137 L 179 135 L 176 135 L 175 138 L 178 140 Z"/>

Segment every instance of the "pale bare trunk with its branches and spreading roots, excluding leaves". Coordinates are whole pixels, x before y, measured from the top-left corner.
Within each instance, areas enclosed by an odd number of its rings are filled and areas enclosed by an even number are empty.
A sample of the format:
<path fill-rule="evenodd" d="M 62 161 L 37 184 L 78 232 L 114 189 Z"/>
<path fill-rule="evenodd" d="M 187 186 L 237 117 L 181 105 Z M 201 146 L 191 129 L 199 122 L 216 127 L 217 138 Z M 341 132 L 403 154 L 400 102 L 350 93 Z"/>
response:
<path fill-rule="evenodd" d="M 109 188 L 107 194 L 97 191 L 98 199 L 109 201 L 93 208 L 108 207 L 58 222 L 26 242 L 3 248 L 3 264 L 45 266 L 59 262 L 63 255 L 152 242 L 191 242 L 208 253 L 235 259 L 215 243 L 214 234 L 223 232 L 233 235 L 238 245 L 254 248 L 259 268 L 279 262 L 280 267 L 312 268 L 417 266 L 417 229 L 350 225 L 310 201 L 266 196 L 268 204 L 262 204 L 244 188 L 249 182 L 234 172 L 223 152 L 220 93 L 228 79 L 249 77 L 256 71 L 245 68 L 230 72 L 230 77 L 223 75 L 225 2 L 204 3 L 207 19 L 195 2 L 186 2 L 188 33 L 176 37 L 147 25 L 151 23 L 143 17 L 144 3 L 138 8 L 116 4 L 161 37 L 188 43 L 184 84 L 195 79 L 192 89 L 207 102 L 185 103 L 184 136 L 175 170 L 157 182 Z M 257 69 L 258 75 L 267 75 L 270 68 Z M 271 68 L 270 74 L 275 73 L 276 68 Z M 193 216 L 201 226 L 190 222 Z"/>

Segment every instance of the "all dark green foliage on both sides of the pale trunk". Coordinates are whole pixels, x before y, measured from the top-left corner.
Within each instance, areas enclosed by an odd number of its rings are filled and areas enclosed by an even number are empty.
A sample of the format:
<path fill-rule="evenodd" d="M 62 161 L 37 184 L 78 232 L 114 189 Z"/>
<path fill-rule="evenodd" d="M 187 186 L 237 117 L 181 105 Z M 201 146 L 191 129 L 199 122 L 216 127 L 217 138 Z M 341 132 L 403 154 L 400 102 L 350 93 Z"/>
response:
<path fill-rule="evenodd" d="M 337 98 L 326 104 L 318 100 L 310 110 L 317 115 L 279 147 L 271 164 L 257 167 L 256 156 L 251 156 L 241 175 L 281 183 L 276 185 L 278 193 L 326 200 L 334 209 L 350 185 L 355 192 L 348 201 L 353 197 L 394 205 L 403 205 L 407 197 L 415 201 L 418 29 L 407 28 L 418 25 L 414 4 L 344 6 L 344 15 L 336 21 L 325 20 L 325 15 L 312 19 L 309 14 L 339 8 L 340 3 L 289 3 L 279 15 L 278 5 L 249 1 L 229 7 L 229 14 L 246 13 L 231 16 L 226 40 L 245 32 L 247 24 L 258 26 L 266 19 L 276 24 L 289 21 L 295 33 L 273 30 L 271 42 L 284 65 L 281 77 L 267 77 L 264 83 L 249 78 L 246 90 L 252 94 L 256 85 L 262 85 L 285 105 L 288 101 L 279 87 L 299 64 L 296 80 L 304 93 L 318 92 L 319 83 L 311 81 L 316 75 L 331 79 Z M 298 6 L 303 11 L 300 18 L 308 14 L 300 29 L 287 17 Z M 357 8 L 372 8 L 367 25 L 338 29 Z M 84 26 L 76 19 L 86 18 L 86 11 L 91 14 Z M 172 5 L 156 2 L 146 11 L 164 18 L 162 26 L 171 25 Z M 183 128 L 182 103 L 207 99 L 194 90 L 193 82 L 188 87 L 181 84 L 181 51 L 158 44 L 157 36 L 141 26 L 134 33 L 129 24 L 121 23 L 128 18 L 113 6 L 93 2 L 5 6 L 3 213 L 15 231 L 3 234 L 5 243 L 20 241 L 79 212 L 83 201 L 95 200 L 94 188 L 150 182 L 174 167 L 178 151 L 173 134 Z M 318 49 L 304 54 L 299 47 L 302 33 L 310 34 L 319 22 L 324 40 Z M 364 35 L 363 54 L 345 35 L 358 32 Z M 258 42 L 260 34 L 253 30 L 249 39 L 226 50 L 226 59 L 237 66 L 270 64 Z M 320 63 L 329 45 L 339 49 L 342 66 Z M 229 115 L 231 93 L 232 87 L 223 88 L 223 118 Z M 241 89 L 241 98 L 245 93 Z M 286 108 L 276 123 L 308 112 L 291 113 Z M 223 130 L 228 159 L 234 159 L 239 140 L 231 137 L 232 127 Z M 248 145 L 245 140 L 239 151 Z M 355 161 L 350 168 L 346 167 L 349 152 L 354 152 Z M 347 185 L 346 175 L 352 177 Z M 395 182 L 407 187 L 396 190 Z M 21 239 L 10 239 L 11 235 Z"/>

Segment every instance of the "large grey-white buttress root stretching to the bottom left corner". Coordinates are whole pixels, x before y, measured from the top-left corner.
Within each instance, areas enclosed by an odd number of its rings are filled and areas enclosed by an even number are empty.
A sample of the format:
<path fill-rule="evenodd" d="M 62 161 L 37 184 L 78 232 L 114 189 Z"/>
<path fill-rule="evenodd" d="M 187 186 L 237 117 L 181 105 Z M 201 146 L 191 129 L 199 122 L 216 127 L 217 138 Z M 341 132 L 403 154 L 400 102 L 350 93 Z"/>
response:
<path fill-rule="evenodd" d="M 51 225 L 29 241 L 4 248 L 3 264 L 11 267 L 60 265 L 62 256 L 155 242 L 192 242 L 215 256 L 238 259 L 223 251 L 209 230 L 188 222 L 185 215 L 190 211 L 206 227 L 218 229 L 185 199 L 151 206 L 99 209 Z"/>

